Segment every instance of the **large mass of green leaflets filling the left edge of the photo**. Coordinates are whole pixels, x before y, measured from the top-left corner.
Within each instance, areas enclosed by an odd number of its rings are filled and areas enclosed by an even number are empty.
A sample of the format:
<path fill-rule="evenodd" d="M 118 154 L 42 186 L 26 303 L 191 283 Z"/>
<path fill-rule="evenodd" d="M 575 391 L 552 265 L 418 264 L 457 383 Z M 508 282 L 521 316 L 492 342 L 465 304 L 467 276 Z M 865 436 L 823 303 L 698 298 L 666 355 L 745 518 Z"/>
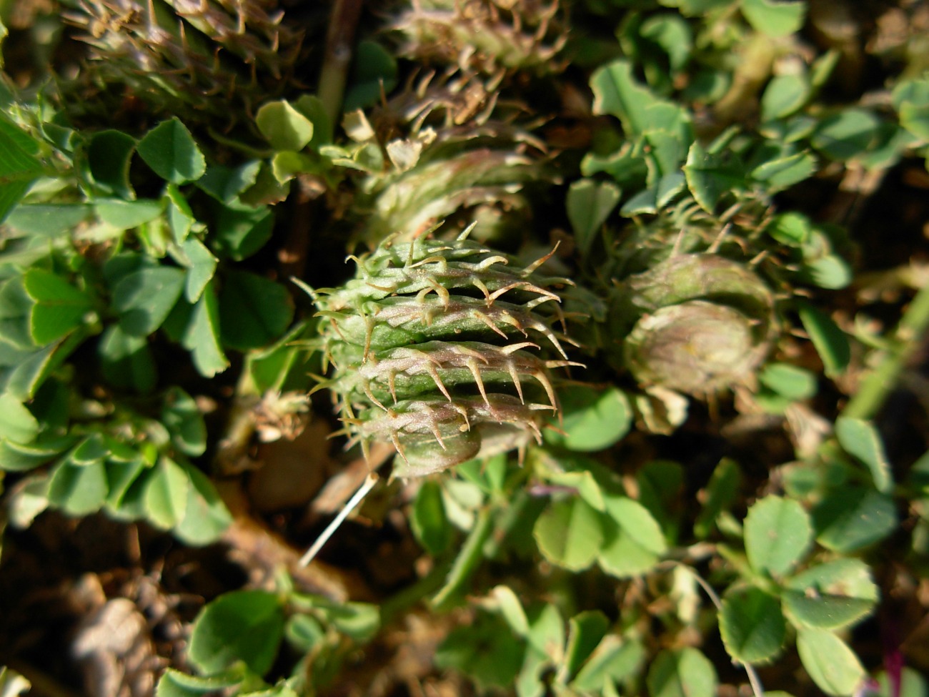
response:
<path fill-rule="evenodd" d="M 263 348 L 289 327 L 283 286 L 216 273 L 270 236 L 268 208 L 241 197 L 260 188 L 258 164 L 208 169 L 177 119 L 137 139 L 79 133 L 42 105 L 9 107 L 0 118 L 9 154 L 0 165 L 0 469 L 31 472 L 12 518 L 28 525 L 46 506 L 75 516 L 102 508 L 190 544 L 213 541 L 229 513 L 191 463 L 206 450 L 201 409 L 184 390 L 159 388 L 171 376 L 158 375 L 155 353 L 179 345 L 212 377 L 229 366 L 226 350 Z M 153 184 L 158 198 L 137 196 Z M 281 347 L 252 353 L 255 392 L 280 388 L 268 369 L 292 364 L 280 362 Z"/>

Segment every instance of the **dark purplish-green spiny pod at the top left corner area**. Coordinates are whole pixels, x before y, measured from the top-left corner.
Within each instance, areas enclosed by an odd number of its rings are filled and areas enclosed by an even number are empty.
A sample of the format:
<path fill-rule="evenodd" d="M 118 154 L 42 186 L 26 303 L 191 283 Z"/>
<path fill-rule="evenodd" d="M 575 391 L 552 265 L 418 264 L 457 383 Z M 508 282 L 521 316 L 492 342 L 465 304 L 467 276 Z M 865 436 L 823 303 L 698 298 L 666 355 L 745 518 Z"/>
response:
<path fill-rule="evenodd" d="M 277 0 L 70 0 L 90 45 L 83 83 L 126 85 L 186 121 L 226 126 L 290 81 L 302 33 Z"/>

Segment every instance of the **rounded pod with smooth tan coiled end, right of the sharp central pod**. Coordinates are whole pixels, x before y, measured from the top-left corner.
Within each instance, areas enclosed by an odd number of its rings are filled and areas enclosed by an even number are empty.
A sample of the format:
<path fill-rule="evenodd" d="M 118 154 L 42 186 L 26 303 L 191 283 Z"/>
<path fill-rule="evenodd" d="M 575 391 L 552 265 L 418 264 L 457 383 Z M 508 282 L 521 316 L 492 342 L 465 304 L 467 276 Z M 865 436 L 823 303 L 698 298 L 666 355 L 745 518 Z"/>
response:
<path fill-rule="evenodd" d="M 771 348 L 771 292 L 724 256 L 670 256 L 627 278 L 613 310 L 622 362 L 646 386 L 689 394 L 732 388 Z"/>

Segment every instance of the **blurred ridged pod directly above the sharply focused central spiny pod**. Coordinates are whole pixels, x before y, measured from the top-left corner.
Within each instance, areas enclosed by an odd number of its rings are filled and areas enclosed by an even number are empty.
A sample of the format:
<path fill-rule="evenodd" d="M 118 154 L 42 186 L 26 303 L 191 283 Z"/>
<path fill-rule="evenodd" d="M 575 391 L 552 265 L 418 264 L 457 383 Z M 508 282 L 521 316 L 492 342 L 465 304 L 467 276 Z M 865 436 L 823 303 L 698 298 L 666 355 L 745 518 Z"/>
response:
<path fill-rule="evenodd" d="M 492 82 L 492 81 L 490 81 Z M 544 144 L 497 107 L 494 86 L 473 74 L 426 74 L 373 113 L 378 133 L 403 133 L 385 145 L 389 163 L 361 187 L 364 238 L 409 241 L 438 221 L 477 221 L 472 237 L 499 241 L 525 228 L 525 190 L 552 181 Z"/>

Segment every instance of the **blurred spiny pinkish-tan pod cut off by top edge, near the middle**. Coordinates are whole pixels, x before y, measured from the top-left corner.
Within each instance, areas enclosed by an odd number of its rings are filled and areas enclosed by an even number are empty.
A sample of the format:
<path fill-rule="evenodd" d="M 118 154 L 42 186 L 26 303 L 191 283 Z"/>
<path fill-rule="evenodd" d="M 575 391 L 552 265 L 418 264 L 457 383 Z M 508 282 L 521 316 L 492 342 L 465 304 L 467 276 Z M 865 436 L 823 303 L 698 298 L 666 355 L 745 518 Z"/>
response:
<path fill-rule="evenodd" d="M 491 74 L 553 72 L 567 40 L 557 26 L 559 3 L 502 0 L 412 0 L 391 29 L 399 55 Z"/>

